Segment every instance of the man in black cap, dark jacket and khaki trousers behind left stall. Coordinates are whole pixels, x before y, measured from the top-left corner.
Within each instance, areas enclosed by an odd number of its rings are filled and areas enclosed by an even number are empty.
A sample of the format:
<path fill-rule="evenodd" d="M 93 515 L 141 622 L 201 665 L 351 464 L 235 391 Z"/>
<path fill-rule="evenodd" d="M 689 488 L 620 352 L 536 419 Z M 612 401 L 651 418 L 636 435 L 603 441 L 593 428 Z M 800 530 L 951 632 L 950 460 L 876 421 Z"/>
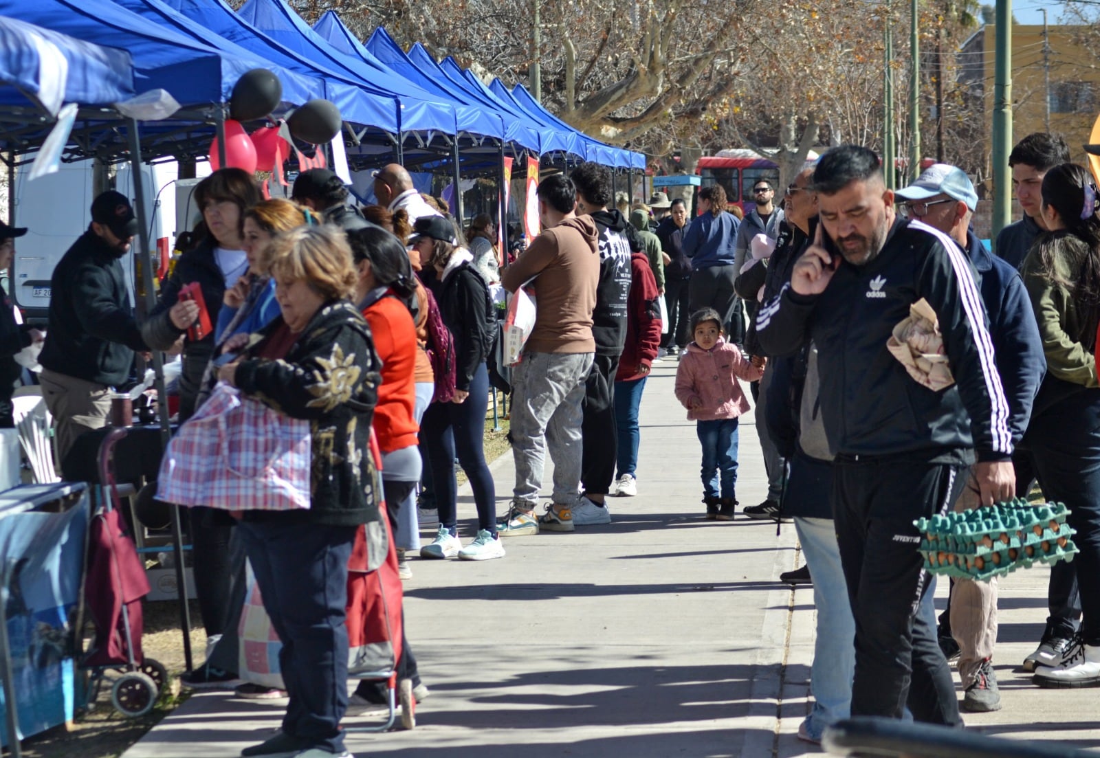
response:
<path fill-rule="evenodd" d="M 138 233 L 130 200 L 109 190 L 91 202 L 91 224 L 50 281 L 50 323 L 38 356 L 42 395 L 57 427 L 61 460 L 81 433 L 107 426 L 111 386 L 130 376 L 135 350 L 147 350 L 134 321 L 119 259 Z M 180 329 L 198 316 L 194 301 L 172 308 Z"/>

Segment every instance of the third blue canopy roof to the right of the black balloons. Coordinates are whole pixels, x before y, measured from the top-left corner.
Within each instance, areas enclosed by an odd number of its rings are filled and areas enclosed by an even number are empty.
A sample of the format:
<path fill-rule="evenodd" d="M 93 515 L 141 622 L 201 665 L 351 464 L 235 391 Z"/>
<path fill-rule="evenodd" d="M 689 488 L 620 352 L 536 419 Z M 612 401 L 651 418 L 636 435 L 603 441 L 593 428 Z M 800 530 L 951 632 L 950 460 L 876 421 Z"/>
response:
<path fill-rule="evenodd" d="M 363 46 L 351 31 L 344 26 L 336 11 L 326 11 L 324 15 L 314 24 L 314 31 L 322 36 L 334 48 L 363 61 L 377 61 L 381 65 L 392 70 L 397 76 L 415 84 L 424 91 L 455 103 L 455 118 L 460 132 L 471 134 L 483 134 L 504 139 L 504 121 L 499 114 L 486 111 L 484 108 L 471 107 L 462 98 L 442 87 L 435 79 L 425 76 L 419 68 L 413 65 L 405 52 L 394 42 L 382 28 L 375 32 L 381 32 L 380 44 L 373 51 Z M 372 36 L 372 40 L 374 37 Z"/>

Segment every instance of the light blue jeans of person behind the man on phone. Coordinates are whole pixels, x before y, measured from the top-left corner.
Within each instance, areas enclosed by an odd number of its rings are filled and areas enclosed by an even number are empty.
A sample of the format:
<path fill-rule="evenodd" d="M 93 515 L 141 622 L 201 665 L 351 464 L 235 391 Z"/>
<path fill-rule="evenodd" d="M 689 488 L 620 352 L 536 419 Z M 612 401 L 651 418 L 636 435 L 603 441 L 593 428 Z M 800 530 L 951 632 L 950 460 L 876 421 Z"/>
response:
<path fill-rule="evenodd" d="M 806 716 L 806 730 L 821 739 L 832 726 L 851 713 L 851 677 L 856 670 L 856 622 L 848 603 L 848 585 L 840 567 L 836 525 L 832 518 L 794 518 L 802 554 L 814 578 L 817 627 L 810 692 L 814 707 Z"/>

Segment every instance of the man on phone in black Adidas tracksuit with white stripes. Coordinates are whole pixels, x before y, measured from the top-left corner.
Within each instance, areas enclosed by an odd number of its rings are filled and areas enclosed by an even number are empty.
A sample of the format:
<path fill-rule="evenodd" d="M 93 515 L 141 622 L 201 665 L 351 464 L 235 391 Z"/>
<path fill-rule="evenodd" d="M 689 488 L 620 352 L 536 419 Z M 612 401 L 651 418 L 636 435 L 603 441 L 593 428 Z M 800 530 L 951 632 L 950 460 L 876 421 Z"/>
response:
<path fill-rule="evenodd" d="M 961 725 L 936 629 L 917 614 L 928 578 L 914 519 L 950 509 L 971 463 L 982 504 L 1012 498 L 1009 409 L 974 271 L 949 238 L 897 219 L 870 150 L 842 145 L 814 169 L 821 223 L 791 281 L 760 309 L 768 354 L 818 350 L 835 453 L 833 515 L 856 619 L 853 716 Z M 955 384 L 933 391 L 887 350 L 910 306 L 935 310 Z"/>

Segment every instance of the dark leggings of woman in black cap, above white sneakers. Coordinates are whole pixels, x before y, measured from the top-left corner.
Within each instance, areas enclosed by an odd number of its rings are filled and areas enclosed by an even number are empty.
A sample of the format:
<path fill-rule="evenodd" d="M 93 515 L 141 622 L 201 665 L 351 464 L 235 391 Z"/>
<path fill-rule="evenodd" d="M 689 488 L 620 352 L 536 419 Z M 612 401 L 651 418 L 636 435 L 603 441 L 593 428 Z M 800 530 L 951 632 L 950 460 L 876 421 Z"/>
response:
<path fill-rule="evenodd" d="M 477 505 L 477 528 L 496 534 L 496 488 L 485 464 L 485 411 L 488 408 L 488 371 L 482 363 L 470 382 L 464 403 L 432 403 L 420 425 L 428 448 L 431 490 L 439 507 L 439 523 L 448 529 L 458 525 L 458 482 L 454 455 L 470 480 Z"/>

